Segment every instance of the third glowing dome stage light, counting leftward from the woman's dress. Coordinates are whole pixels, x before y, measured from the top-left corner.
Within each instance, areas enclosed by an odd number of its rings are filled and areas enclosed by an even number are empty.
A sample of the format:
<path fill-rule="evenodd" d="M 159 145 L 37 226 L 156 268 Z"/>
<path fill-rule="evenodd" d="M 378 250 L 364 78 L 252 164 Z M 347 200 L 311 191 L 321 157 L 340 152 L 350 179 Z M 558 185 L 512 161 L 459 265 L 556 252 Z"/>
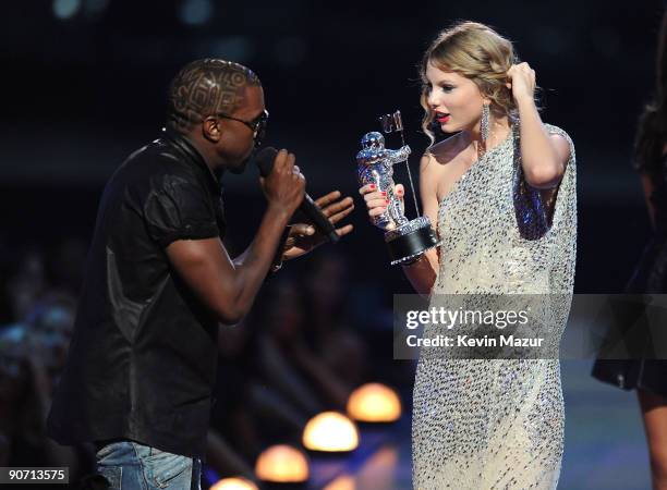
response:
<path fill-rule="evenodd" d="M 291 445 L 272 445 L 259 454 L 255 475 L 270 483 L 303 483 L 308 479 L 308 462 Z"/>

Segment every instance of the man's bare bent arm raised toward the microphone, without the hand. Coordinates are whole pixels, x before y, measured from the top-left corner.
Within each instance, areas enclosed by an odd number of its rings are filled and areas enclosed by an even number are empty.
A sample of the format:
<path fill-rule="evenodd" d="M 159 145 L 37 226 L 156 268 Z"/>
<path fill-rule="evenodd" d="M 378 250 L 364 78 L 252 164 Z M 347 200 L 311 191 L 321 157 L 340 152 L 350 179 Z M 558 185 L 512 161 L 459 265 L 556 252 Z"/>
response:
<path fill-rule="evenodd" d="M 230 259 L 218 237 L 178 240 L 167 246 L 167 255 L 177 272 L 220 321 L 234 324 L 250 310 L 289 219 L 287 210 L 269 205 L 242 264 L 235 265 Z"/>

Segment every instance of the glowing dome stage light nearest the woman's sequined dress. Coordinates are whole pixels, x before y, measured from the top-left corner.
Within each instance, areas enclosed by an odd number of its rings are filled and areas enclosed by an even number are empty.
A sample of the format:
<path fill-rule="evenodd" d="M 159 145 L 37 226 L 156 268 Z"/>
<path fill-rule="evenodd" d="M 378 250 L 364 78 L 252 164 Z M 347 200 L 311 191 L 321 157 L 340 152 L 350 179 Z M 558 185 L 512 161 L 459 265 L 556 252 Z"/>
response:
<path fill-rule="evenodd" d="M 348 399 L 348 415 L 364 422 L 390 422 L 401 416 L 401 400 L 391 388 L 367 383 L 352 392 Z"/>

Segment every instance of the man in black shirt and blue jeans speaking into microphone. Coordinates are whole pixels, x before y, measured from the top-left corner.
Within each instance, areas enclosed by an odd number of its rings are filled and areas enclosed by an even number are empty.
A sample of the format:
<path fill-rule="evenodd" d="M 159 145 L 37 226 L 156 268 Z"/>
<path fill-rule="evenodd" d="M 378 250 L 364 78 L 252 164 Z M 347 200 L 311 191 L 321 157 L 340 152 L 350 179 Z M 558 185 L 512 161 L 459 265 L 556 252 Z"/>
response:
<path fill-rule="evenodd" d="M 165 134 L 105 188 L 48 430 L 63 444 L 94 441 L 113 488 L 198 487 L 218 322 L 250 310 L 276 256 L 323 241 L 312 226 L 293 226 L 291 246 L 277 254 L 305 185 L 281 150 L 262 183 L 268 207 L 254 241 L 234 259 L 222 245 L 217 174 L 243 171 L 267 118 L 251 70 L 192 62 L 172 81 Z M 335 223 L 353 208 L 338 192 L 318 204 Z"/>

